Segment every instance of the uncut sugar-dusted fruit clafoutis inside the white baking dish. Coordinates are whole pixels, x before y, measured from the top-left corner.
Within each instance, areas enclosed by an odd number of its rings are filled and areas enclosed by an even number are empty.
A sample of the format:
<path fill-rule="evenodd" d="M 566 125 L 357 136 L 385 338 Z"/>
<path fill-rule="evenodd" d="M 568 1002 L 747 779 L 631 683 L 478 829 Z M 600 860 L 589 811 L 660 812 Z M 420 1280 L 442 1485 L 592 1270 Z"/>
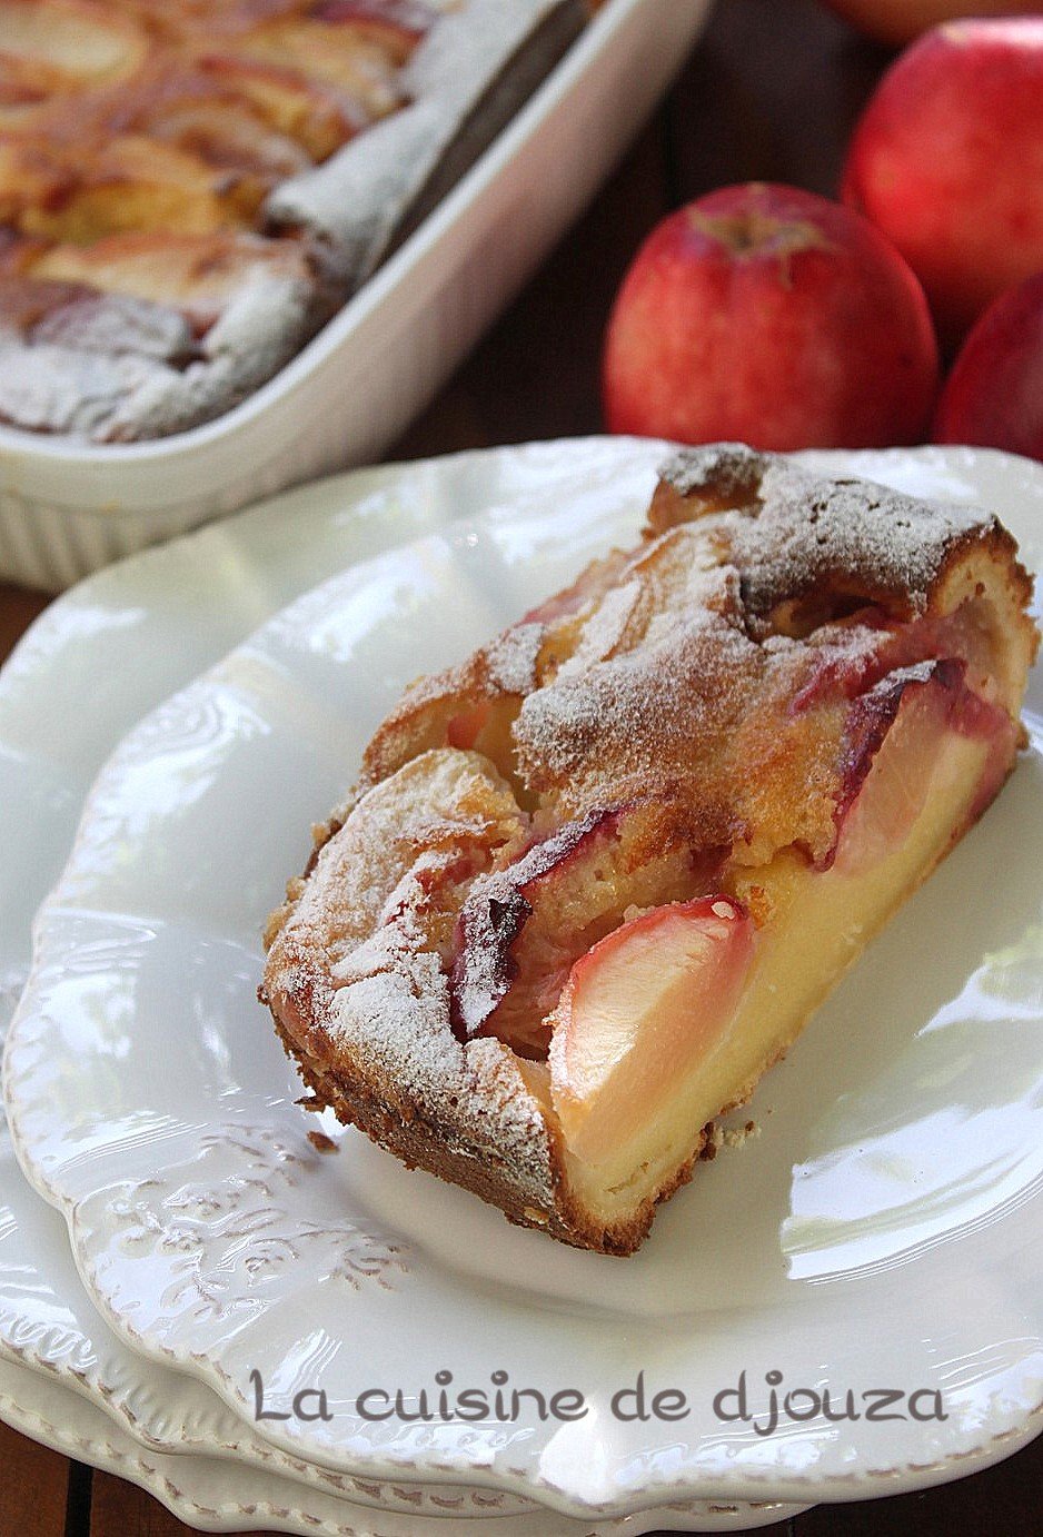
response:
<path fill-rule="evenodd" d="M 278 372 L 587 0 L 0 0 L 0 421 L 97 443 Z"/>

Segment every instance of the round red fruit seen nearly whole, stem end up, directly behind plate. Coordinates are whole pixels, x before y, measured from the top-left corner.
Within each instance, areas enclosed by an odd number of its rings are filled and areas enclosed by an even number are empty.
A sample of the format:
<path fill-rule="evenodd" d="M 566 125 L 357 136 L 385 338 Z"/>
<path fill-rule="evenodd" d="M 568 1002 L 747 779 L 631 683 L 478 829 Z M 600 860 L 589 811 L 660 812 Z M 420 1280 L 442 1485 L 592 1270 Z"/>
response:
<path fill-rule="evenodd" d="M 722 188 L 664 220 L 619 292 L 613 432 L 760 449 L 914 443 L 937 390 L 923 292 L 865 220 L 794 188 Z"/>

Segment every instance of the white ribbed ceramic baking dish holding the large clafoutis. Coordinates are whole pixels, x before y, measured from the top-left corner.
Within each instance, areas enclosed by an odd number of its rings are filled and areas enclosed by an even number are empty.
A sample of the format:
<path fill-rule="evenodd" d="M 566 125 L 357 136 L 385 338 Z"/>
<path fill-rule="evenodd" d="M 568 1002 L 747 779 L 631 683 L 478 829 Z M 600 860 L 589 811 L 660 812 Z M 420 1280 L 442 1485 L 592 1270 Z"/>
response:
<path fill-rule="evenodd" d="M 0 576 L 57 590 L 260 496 L 376 458 L 588 201 L 708 8 L 607 0 L 402 249 L 227 415 L 126 446 L 0 427 Z"/>

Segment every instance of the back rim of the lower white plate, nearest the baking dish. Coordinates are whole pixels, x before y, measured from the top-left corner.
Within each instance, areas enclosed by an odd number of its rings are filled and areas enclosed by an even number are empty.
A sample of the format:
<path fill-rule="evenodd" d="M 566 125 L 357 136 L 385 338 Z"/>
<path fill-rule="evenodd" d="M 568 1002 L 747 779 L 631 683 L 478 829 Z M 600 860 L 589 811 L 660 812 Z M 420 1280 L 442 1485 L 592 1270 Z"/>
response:
<path fill-rule="evenodd" d="M 146 712 L 330 572 L 482 507 L 605 487 L 619 440 L 458 453 L 287 492 L 123 561 L 58 598 L 0 670 L 0 1022 L 29 971 L 29 925 L 69 853 L 88 787 Z M 641 447 L 648 475 L 661 455 Z"/>

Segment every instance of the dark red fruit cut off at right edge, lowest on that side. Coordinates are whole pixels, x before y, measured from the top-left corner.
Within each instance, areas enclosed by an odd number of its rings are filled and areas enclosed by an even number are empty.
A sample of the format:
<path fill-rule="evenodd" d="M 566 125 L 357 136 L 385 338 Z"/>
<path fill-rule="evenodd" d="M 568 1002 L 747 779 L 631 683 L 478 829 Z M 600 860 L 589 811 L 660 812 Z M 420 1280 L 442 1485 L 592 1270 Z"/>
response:
<path fill-rule="evenodd" d="M 1043 272 L 1002 294 L 963 343 L 934 441 L 1043 460 Z"/>

